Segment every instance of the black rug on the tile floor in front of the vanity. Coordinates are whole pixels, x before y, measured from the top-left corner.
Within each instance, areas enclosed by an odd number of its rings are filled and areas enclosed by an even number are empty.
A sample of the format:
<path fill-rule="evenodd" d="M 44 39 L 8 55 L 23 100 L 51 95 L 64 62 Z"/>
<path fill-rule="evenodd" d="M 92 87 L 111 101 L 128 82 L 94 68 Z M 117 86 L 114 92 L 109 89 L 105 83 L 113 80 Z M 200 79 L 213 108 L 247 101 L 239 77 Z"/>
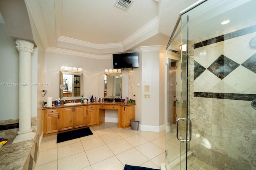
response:
<path fill-rule="evenodd" d="M 72 130 L 69 132 L 63 132 L 63 133 L 58 133 L 57 134 L 57 143 L 59 142 L 64 142 L 67 140 L 72 140 L 76 138 L 81 138 L 84 136 L 88 136 L 93 134 L 90 128 L 81 128 L 78 130 Z"/>

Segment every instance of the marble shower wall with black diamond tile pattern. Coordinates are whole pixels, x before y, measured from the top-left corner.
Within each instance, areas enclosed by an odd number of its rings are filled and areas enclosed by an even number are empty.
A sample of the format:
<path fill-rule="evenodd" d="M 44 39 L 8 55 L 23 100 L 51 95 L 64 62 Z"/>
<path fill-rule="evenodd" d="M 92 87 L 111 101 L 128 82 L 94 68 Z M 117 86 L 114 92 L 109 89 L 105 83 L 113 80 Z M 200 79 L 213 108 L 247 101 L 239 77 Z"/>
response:
<path fill-rule="evenodd" d="M 189 49 L 190 150 L 220 169 L 256 168 L 255 36 L 249 26 L 199 38 Z"/>

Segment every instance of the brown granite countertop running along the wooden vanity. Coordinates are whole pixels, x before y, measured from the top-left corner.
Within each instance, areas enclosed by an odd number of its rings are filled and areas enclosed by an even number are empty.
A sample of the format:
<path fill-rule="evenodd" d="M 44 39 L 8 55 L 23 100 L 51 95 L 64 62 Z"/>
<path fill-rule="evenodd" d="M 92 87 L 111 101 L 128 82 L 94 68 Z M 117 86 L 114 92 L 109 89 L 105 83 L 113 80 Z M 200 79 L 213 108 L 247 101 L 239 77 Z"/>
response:
<path fill-rule="evenodd" d="M 66 102 L 68 103 L 68 102 Z M 77 102 L 79 103 L 79 101 Z M 120 106 L 130 106 L 130 105 L 135 105 L 135 103 L 129 103 L 129 102 L 109 102 L 109 101 L 102 101 L 102 102 L 89 102 L 89 103 L 81 103 L 78 105 L 55 105 L 52 107 L 43 107 L 42 110 L 44 109 L 58 109 L 58 108 L 63 108 L 63 107 L 77 107 L 77 106 L 88 106 L 88 105 L 120 105 Z"/>

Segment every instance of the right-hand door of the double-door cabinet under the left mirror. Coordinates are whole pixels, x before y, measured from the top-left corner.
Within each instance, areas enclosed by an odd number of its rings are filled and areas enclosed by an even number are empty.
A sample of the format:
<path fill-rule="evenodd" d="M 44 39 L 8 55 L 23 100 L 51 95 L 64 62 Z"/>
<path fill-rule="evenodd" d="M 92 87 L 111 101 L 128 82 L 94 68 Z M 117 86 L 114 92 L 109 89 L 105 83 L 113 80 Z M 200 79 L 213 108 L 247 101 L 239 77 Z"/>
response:
<path fill-rule="evenodd" d="M 86 107 L 74 107 L 74 128 L 86 126 Z"/>

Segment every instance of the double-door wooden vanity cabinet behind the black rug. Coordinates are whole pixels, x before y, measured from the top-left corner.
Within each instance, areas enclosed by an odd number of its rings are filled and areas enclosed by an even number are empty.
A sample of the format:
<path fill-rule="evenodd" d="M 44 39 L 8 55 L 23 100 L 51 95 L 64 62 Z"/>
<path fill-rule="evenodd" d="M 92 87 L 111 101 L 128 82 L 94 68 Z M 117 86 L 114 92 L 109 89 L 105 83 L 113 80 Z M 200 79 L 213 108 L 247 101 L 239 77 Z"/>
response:
<path fill-rule="evenodd" d="M 86 107 L 64 107 L 60 109 L 60 130 L 86 126 Z"/>

